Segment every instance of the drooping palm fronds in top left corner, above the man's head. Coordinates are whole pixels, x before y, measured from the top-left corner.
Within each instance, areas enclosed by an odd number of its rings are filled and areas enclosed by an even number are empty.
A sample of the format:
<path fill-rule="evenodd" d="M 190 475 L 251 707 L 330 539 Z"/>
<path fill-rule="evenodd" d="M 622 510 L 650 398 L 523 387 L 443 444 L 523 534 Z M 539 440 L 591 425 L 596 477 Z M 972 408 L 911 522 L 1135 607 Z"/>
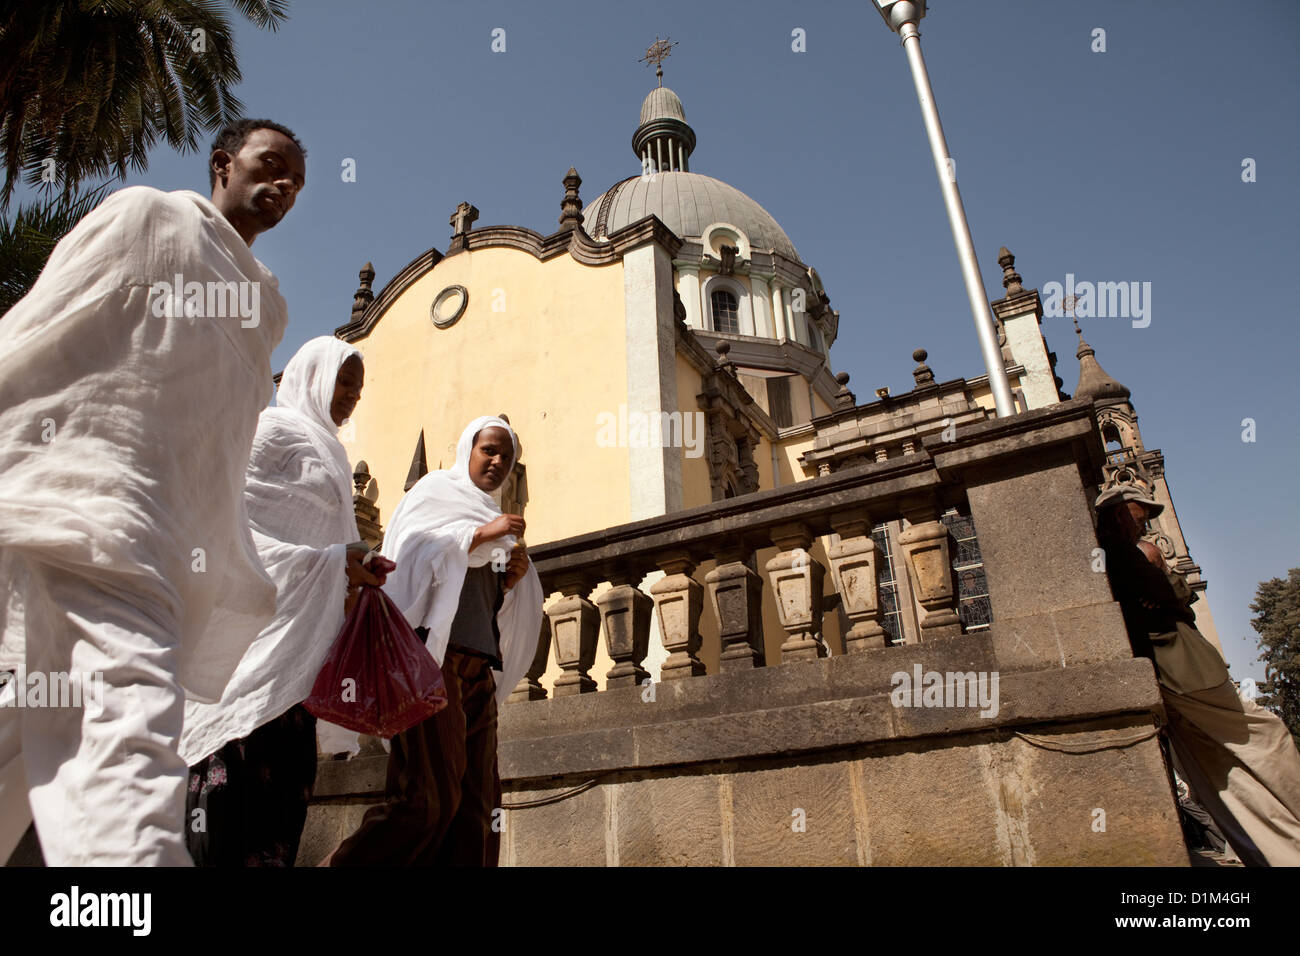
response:
<path fill-rule="evenodd" d="M 23 177 L 66 198 L 238 118 L 228 5 L 274 30 L 289 1 L 0 0 L 0 206 Z"/>

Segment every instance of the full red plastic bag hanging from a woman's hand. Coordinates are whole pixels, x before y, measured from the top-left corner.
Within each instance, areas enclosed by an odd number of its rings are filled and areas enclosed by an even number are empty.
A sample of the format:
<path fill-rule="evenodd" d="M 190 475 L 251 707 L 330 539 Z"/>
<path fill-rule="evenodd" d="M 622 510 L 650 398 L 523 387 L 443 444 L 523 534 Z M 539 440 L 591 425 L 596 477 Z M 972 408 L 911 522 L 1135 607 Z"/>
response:
<path fill-rule="evenodd" d="M 396 567 L 378 555 L 374 572 Z M 377 737 L 410 730 L 447 706 L 442 670 L 393 600 L 361 587 L 303 705 L 322 721 Z"/>

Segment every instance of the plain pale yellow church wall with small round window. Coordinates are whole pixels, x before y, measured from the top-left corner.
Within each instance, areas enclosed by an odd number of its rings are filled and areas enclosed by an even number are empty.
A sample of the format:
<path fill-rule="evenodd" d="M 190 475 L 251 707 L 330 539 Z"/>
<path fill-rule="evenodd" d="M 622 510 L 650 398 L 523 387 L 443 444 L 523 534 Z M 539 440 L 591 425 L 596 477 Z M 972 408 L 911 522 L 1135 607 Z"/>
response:
<path fill-rule="evenodd" d="M 469 290 L 460 320 L 429 317 L 448 285 Z M 628 520 L 625 449 L 597 445 L 595 415 L 627 402 L 623 265 L 538 261 L 514 248 L 450 256 L 355 343 L 365 389 L 343 429 L 348 459 L 378 483 L 385 525 L 400 501 L 420 429 L 429 471 L 450 468 L 462 429 L 506 412 L 524 445 L 526 540 L 552 541 Z"/>

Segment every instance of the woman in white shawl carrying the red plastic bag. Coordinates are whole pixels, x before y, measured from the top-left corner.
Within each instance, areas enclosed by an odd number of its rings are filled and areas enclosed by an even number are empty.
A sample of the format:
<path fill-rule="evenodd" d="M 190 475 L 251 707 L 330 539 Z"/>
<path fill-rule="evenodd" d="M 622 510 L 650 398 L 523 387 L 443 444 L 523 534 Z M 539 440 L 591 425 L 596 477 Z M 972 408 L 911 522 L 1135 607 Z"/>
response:
<path fill-rule="evenodd" d="M 276 583 L 270 624 L 217 704 L 186 702 L 186 836 L 200 866 L 292 866 L 316 783 L 308 697 L 361 567 L 352 468 L 338 428 L 364 385 L 361 354 L 321 336 L 285 367 L 257 421 L 244 501 L 257 554 Z"/>

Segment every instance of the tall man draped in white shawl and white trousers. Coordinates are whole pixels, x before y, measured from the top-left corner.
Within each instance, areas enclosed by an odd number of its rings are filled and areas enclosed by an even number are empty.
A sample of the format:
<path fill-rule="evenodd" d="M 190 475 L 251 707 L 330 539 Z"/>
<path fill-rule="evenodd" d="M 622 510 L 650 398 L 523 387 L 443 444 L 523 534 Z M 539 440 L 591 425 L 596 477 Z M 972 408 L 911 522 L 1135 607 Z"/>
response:
<path fill-rule="evenodd" d="M 35 818 L 51 865 L 190 864 L 185 691 L 220 697 L 276 607 L 243 485 L 287 313 L 250 245 L 304 174 L 233 124 L 211 200 L 116 193 L 0 319 L 0 861 Z"/>

